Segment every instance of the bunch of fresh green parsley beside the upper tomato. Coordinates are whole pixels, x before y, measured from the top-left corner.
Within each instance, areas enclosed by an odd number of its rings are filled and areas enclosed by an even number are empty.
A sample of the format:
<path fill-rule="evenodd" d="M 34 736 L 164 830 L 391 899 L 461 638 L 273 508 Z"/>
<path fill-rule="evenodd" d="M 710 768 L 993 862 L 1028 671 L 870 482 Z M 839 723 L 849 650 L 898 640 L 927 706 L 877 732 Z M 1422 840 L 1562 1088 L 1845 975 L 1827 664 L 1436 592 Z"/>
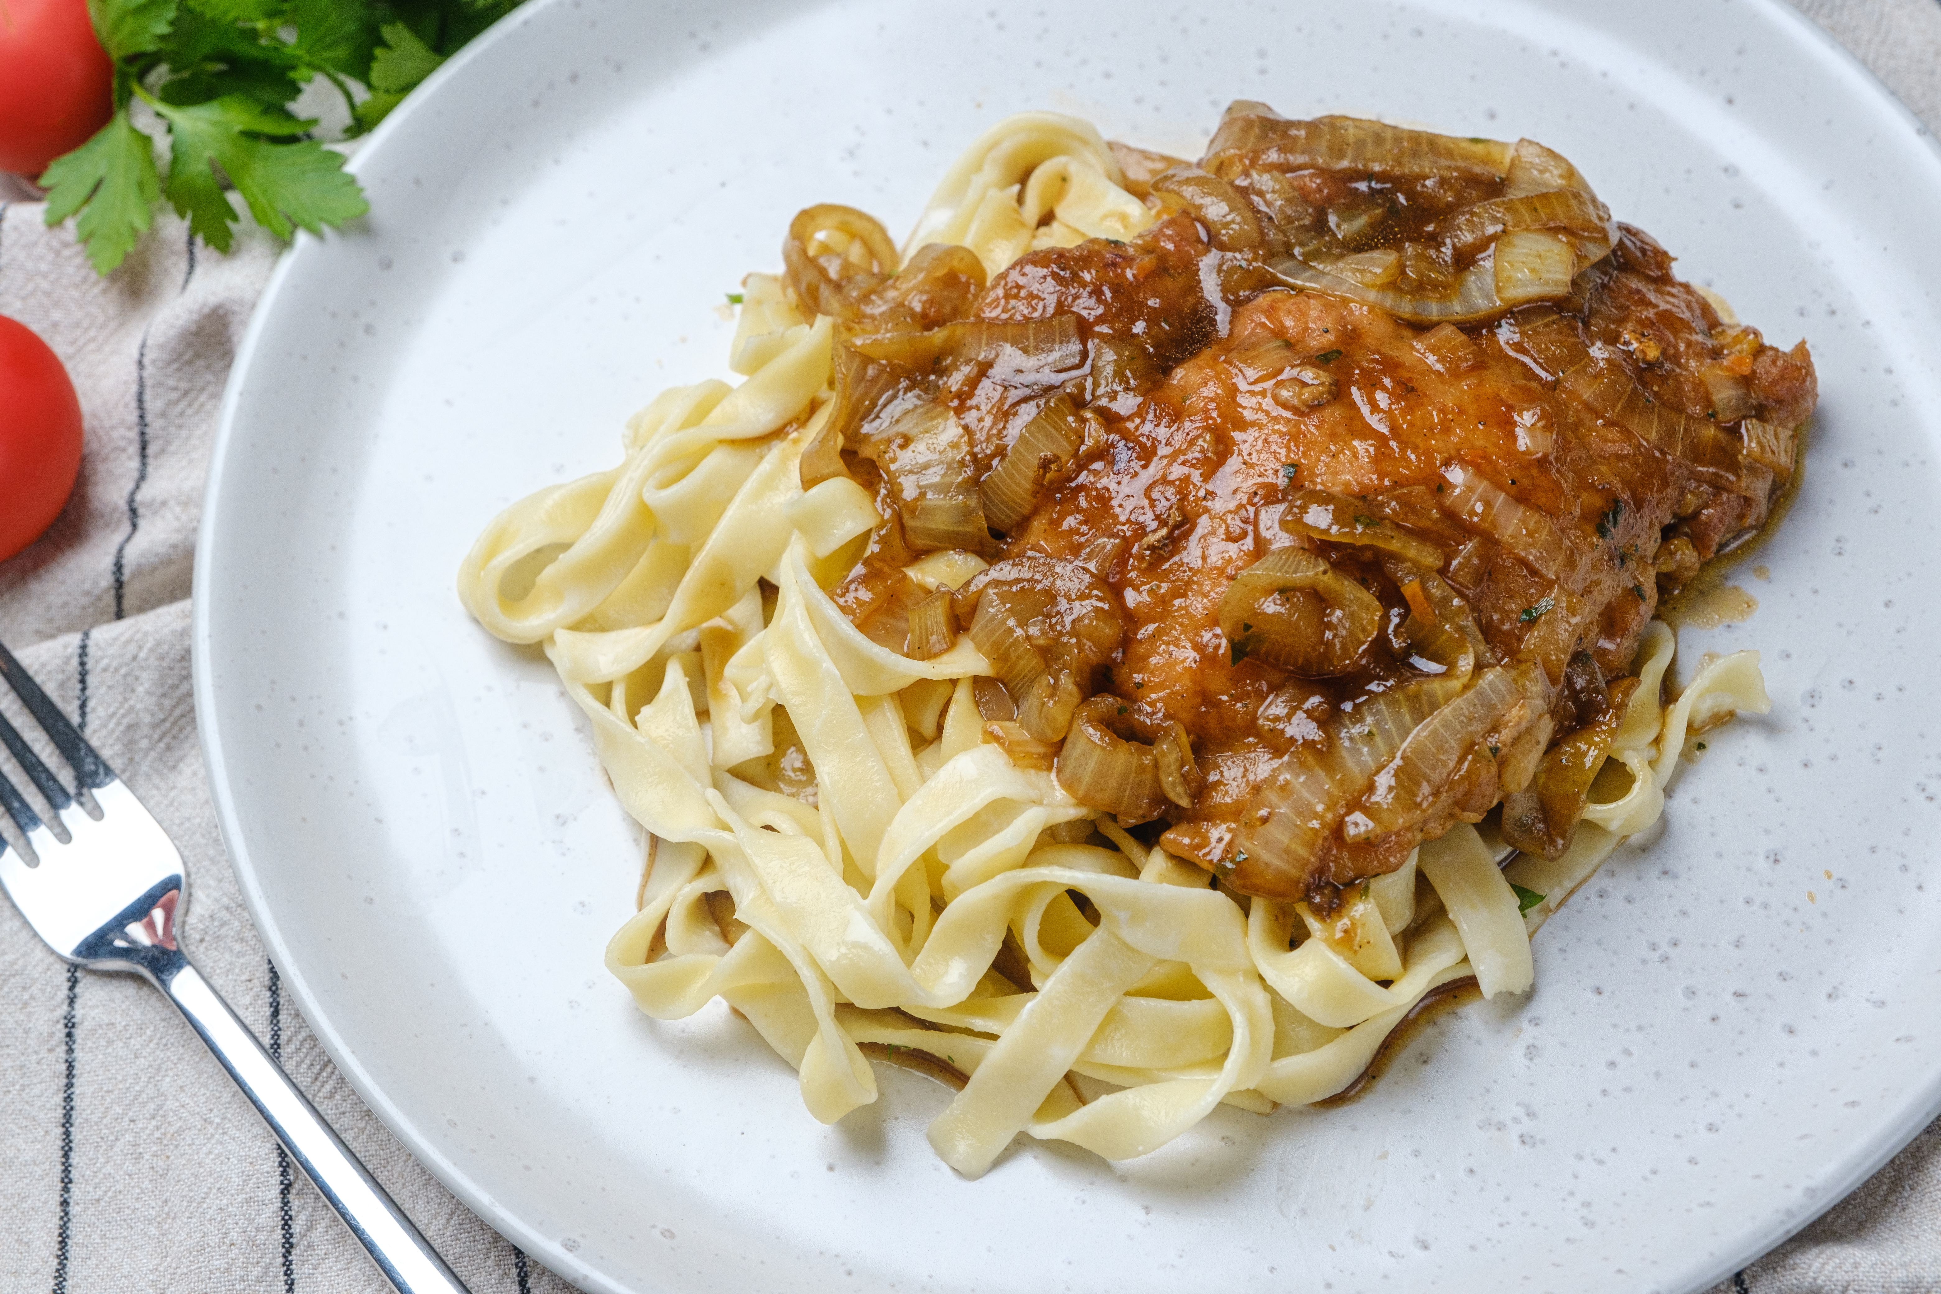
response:
<path fill-rule="evenodd" d="M 241 219 L 225 186 L 278 239 L 355 219 L 369 210 L 363 188 L 316 140 L 318 122 L 289 105 L 324 78 L 344 95 L 349 134 L 363 134 L 516 4 L 87 0 L 115 60 L 115 116 L 41 175 L 47 223 L 74 217 L 89 262 L 107 274 L 142 241 L 161 198 L 221 252 Z M 136 103 L 167 132 L 167 178 Z"/>

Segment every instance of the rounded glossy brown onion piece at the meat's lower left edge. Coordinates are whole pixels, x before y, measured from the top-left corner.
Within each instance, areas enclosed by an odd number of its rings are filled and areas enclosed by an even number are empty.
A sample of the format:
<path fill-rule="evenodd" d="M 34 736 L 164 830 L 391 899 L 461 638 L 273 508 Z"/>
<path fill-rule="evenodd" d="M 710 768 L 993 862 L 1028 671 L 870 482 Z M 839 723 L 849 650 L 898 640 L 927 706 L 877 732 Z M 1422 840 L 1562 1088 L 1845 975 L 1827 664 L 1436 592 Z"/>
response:
<path fill-rule="evenodd" d="M 1038 553 L 978 572 L 957 592 L 957 619 L 969 619 L 970 640 L 1017 702 L 1019 724 L 1040 741 L 1066 735 L 1126 623 L 1097 574 Z"/>

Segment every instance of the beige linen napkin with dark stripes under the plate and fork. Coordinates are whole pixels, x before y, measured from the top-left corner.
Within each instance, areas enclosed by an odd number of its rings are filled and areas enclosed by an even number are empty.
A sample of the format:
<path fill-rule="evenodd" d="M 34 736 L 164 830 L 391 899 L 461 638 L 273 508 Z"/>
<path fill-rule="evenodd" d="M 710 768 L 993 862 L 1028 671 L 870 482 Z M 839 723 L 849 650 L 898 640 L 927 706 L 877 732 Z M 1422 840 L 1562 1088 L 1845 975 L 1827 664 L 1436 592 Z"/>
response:
<path fill-rule="evenodd" d="M 1799 0 L 1941 130 L 1941 4 Z M 192 941 L 229 997 L 476 1294 L 565 1290 L 357 1100 L 278 987 L 196 747 L 188 574 L 229 361 L 276 248 L 163 217 L 97 279 L 33 202 L 0 206 L 0 314 L 66 361 L 87 454 L 54 528 L 0 563 L 0 640 L 85 726 L 190 863 Z M 6 698 L 8 704 L 12 698 Z M 0 1290 L 382 1294 L 202 1044 L 146 984 L 80 976 L 0 904 Z M 1941 1123 L 1712 1294 L 1941 1294 Z"/>

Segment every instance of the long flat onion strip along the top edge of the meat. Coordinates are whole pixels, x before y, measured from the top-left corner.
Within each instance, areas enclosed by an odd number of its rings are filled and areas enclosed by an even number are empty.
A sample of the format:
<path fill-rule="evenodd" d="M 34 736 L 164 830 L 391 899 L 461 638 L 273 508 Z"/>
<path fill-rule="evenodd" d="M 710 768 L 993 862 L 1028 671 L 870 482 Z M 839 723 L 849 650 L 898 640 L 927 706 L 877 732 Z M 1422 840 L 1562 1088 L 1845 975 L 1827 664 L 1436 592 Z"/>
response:
<path fill-rule="evenodd" d="M 1238 165 L 1234 165 L 1238 163 Z M 1236 103 L 1207 146 L 1207 169 L 1361 171 L 1403 178 L 1464 175 L 1493 180 L 1510 165 L 1510 146 L 1359 116 L 1291 122 L 1262 105 Z"/>

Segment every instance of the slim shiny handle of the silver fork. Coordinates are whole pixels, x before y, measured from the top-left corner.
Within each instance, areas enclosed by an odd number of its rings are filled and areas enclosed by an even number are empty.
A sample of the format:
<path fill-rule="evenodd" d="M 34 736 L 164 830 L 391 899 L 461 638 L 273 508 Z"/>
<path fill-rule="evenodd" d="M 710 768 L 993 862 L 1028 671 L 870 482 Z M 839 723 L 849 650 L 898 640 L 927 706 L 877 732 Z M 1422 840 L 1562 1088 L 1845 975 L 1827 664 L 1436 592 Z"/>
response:
<path fill-rule="evenodd" d="M 186 956 L 169 958 L 155 984 L 210 1044 L 210 1051 L 237 1081 L 243 1094 L 262 1114 L 297 1166 L 316 1183 L 324 1199 L 357 1242 L 371 1253 L 398 1294 L 468 1294 L 444 1259 L 417 1234 L 411 1220 L 390 1201 L 357 1156 L 316 1114 L 316 1106 L 297 1090 L 283 1067 L 262 1050 L 256 1034 L 237 1019 Z"/>

